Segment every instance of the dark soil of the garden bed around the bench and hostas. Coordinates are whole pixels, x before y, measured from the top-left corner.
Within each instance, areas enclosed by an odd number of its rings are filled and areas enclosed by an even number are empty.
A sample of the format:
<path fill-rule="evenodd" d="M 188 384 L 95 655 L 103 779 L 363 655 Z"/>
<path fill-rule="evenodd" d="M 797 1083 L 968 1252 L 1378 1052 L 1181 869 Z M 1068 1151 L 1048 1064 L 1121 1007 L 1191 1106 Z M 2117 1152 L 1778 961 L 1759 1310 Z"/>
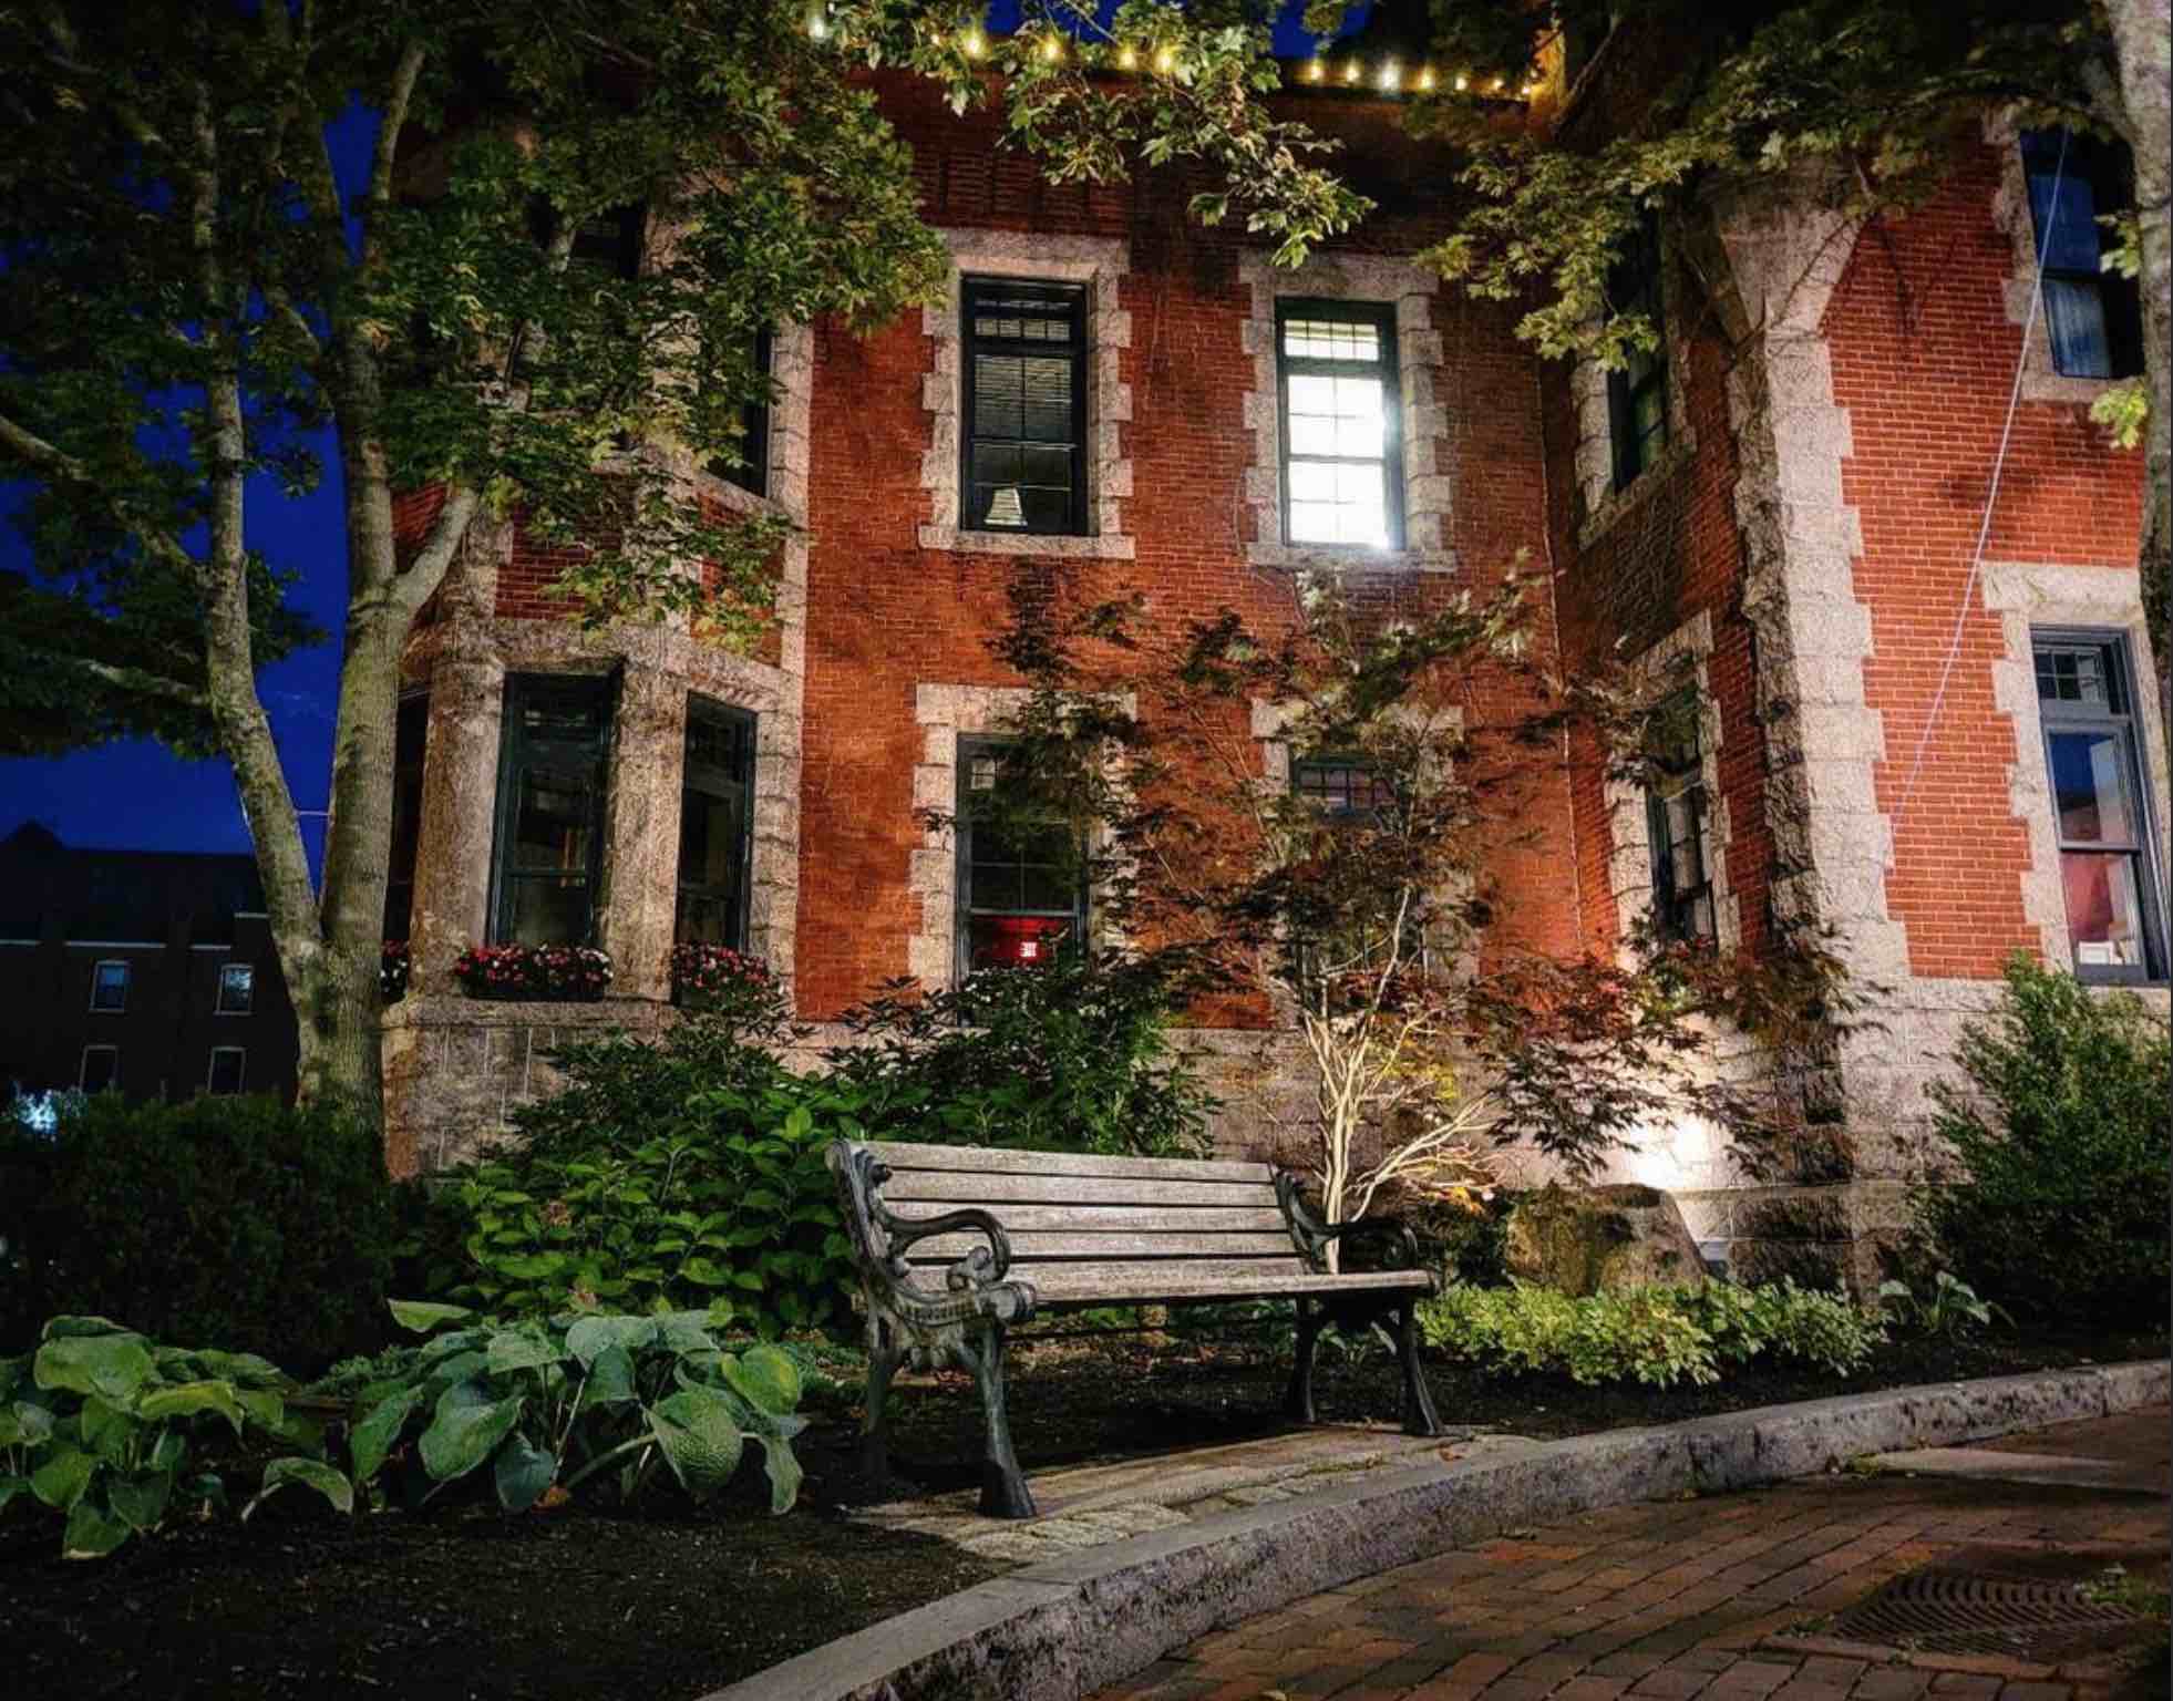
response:
<path fill-rule="evenodd" d="M 1849 1382 L 1738 1373 L 1712 1388 L 1578 1388 L 1432 1366 L 1454 1427 L 1567 1436 L 1788 1399 L 1969 1375 L 2149 1358 L 2164 1338 L 2023 1347 L 1891 1347 Z M 1284 1429 L 1282 1340 L 1108 1336 L 1045 1343 L 1015 1360 L 1010 1403 L 1028 1473 Z M 1382 1351 L 1328 1356 L 1328 1421 L 1397 1414 Z M 482 1505 L 337 1519 L 302 1497 L 248 1527 L 187 1525 L 111 1560 L 63 1564 L 50 1523 L 0 1525 L 0 1647 L 9 1692 L 41 1701 L 154 1690 L 233 1701 L 643 1697 L 691 1701 L 802 1649 L 967 1588 L 997 1566 L 934 1540 L 850 1525 L 839 1503 L 978 1479 L 980 1406 L 958 1375 L 897 1388 L 895 1479 L 854 1473 L 854 1412 L 802 1438 L 808 1482 L 784 1519 L 743 1495 L 639 1516 L 571 1505 L 502 1519 Z M 752 1460 L 750 1460 L 752 1466 Z M 243 1471 L 237 1482 L 248 1482 Z"/>

